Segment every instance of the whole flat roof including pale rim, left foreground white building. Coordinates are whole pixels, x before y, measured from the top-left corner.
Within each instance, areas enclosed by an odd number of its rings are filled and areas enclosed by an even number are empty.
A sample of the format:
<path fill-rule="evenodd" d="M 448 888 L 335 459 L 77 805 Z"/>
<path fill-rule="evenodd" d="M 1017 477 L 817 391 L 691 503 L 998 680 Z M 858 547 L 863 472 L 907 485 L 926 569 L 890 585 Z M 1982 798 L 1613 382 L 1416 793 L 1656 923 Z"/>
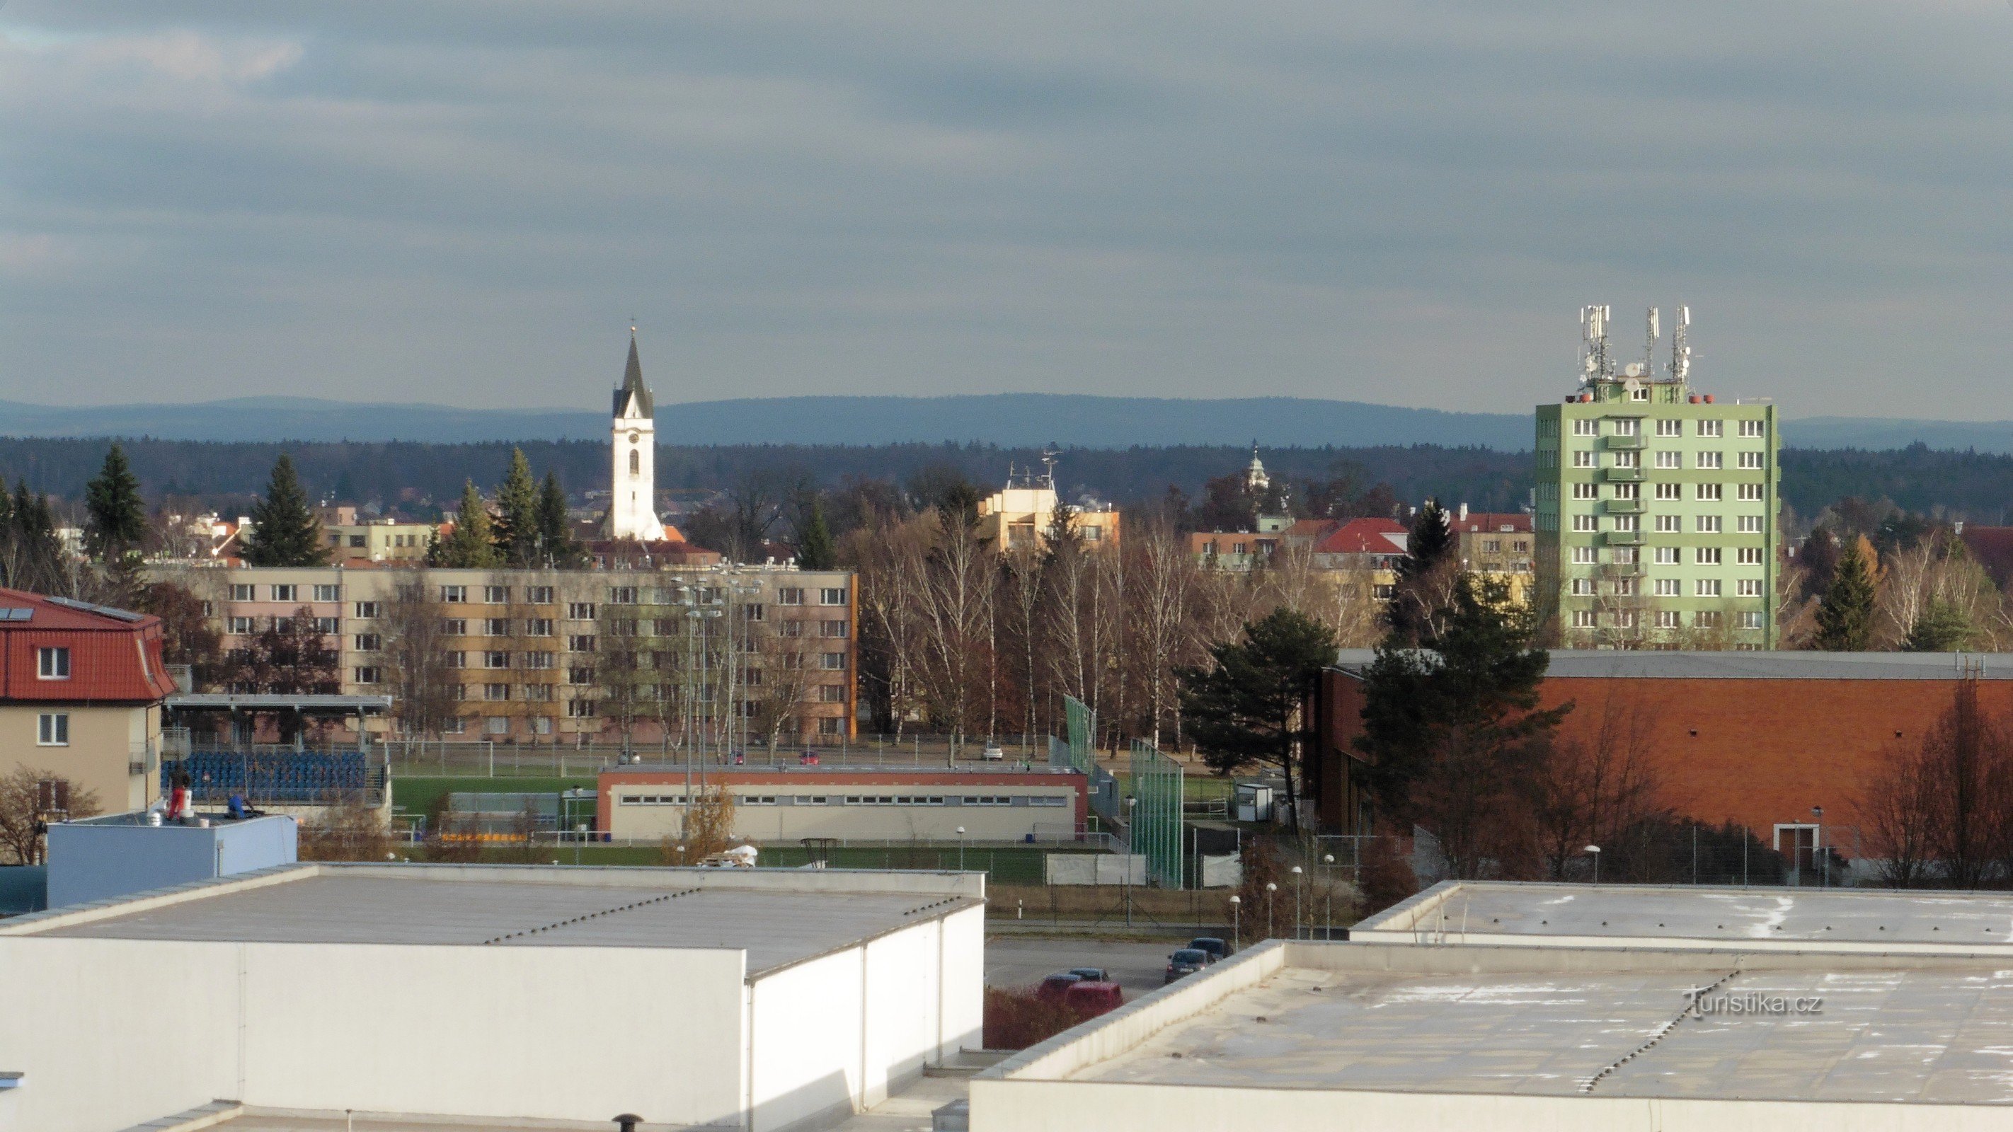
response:
<path fill-rule="evenodd" d="M 22 917 L 6 933 L 735 949 L 753 975 L 974 907 L 966 887 L 928 873 L 302 865 Z"/>

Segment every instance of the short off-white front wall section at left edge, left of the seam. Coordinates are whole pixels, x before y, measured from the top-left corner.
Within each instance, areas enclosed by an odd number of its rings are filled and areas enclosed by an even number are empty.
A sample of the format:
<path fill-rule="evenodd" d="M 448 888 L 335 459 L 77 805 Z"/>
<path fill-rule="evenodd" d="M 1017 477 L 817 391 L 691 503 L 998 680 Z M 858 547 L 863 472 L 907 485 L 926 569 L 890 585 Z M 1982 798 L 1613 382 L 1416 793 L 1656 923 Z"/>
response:
<path fill-rule="evenodd" d="M 4 1132 L 109 1132 L 238 1090 L 227 943 L 0 937 Z M 221 1052 L 221 1054 L 219 1054 Z"/>

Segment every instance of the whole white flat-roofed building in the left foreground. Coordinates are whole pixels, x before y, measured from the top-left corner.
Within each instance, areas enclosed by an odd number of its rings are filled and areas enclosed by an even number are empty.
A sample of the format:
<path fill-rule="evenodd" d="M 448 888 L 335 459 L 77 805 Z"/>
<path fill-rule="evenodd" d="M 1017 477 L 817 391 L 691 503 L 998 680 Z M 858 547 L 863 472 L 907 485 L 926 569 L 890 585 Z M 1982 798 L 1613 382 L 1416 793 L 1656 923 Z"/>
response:
<path fill-rule="evenodd" d="M 978 1046 L 982 885 L 296 865 L 4 921 L 0 1132 L 827 1126 Z"/>

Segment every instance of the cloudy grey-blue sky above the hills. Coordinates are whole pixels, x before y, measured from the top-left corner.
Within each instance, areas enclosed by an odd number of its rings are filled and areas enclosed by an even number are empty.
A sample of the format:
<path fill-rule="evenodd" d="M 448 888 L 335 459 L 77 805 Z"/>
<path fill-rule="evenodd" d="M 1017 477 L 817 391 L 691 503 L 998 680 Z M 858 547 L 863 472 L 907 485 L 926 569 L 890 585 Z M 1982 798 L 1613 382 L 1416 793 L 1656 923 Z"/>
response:
<path fill-rule="evenodd" d="M 2007 0 L 12 0 L 0 398 L 1997 420 L 2009 135 Z"/>

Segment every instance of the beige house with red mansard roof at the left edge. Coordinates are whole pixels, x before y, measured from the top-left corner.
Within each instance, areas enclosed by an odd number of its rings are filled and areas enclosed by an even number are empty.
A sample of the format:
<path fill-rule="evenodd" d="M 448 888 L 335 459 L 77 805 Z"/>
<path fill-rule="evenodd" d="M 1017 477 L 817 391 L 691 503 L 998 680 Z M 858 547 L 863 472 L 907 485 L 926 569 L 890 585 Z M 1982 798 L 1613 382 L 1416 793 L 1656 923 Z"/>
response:
<path fill-rule="evenodd" d="M 0 776 L 68 778 L 109 812 L 159 794 L 161 619 L 0 589 Z"/>

